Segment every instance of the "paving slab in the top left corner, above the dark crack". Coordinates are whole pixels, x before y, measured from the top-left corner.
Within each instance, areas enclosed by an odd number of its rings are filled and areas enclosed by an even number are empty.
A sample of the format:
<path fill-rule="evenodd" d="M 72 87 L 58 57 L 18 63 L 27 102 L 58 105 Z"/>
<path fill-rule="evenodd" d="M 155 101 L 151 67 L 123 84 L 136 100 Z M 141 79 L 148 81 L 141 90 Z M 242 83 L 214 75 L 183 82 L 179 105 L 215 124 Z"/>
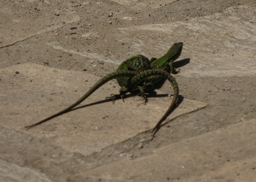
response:
<path fill-rule="evenodd" d="M 79 16 L 74 11 L 70 11 L 72 4 L 70 2 L 63 4 L 30 0 L 29 2 L 3 1 L 1 3 L 1 17 L 6 21 L 4 24 L 0 24 L 0 48 L 13 45 L 31 36 L 55 30 L 61 27 L 63 22 L 79 20 Z M 57 5 L 59 8 L 55 9 L 53 5 Z M 29 11 L 27 11 L 28 9 Z M 21 28 L 17 28 L 17 26 Z"/>

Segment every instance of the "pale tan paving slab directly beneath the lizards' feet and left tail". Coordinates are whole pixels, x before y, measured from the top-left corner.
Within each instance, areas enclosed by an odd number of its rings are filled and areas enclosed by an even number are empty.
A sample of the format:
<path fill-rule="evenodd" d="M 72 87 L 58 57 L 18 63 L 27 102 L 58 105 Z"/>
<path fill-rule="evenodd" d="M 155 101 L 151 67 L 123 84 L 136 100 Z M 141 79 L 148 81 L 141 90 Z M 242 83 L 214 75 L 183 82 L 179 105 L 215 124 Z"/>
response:
<path fill-rule="evenodd" d="M 18 74 L 15 73 L 17 71 Z M 146 106 L 139 107 L 139 102 L 136 102 L 139 97 L 126 98 L 125 103 L 117 100 L 114 105 L 111 100 L 104 102 L 111 93 L 118 93 L 118 84 L 113 81 L 98 89 L 84 102 L 91 104 L 103 100 L 101 104 L 73 110 L 25 130 L 24 126 L 71 105 L 100 78 L 31 63 L 0 69 L 0 74 L 2 126 L 34 137 L 48 137 L 63 148 L 84 155 L 152 129 L 171 102 L 168 97 L 149 98 Z M 203 102 L 184 99 L 166 121 L 205 106 Z"/>

